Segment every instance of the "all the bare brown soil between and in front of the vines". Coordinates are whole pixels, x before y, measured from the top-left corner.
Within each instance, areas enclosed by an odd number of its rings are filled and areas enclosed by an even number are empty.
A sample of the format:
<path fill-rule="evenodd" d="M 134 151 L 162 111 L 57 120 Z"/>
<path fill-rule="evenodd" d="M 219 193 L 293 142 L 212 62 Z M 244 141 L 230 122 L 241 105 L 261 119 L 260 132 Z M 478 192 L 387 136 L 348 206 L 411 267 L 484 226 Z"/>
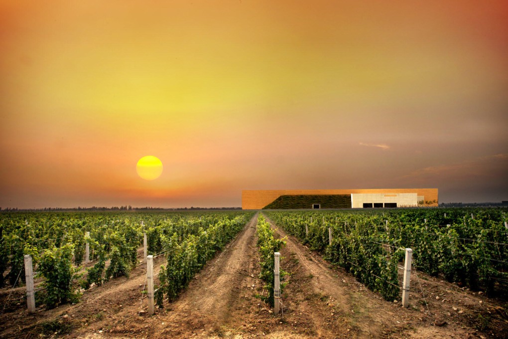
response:
<path fill-rule="evenodd" d="M 502 302 L 421 272 L 411 279 L 409 307 L 383 300 L 351 274 L 333 267 L 297 239 L 286 237 L 281 268 L 289 274 L 282 312 L 274 316 L 262 300 L 256 248 L 257 215 L 210 260 L 179 298 L 153 316 L 143 298 L 146 265 L 129 278 L 85 291 L 77 304 L 28 315 L 24 288 L 2 289 L 0 337 L 231 337 L 231 338 L 488 338 L 505 337 Z M 141 259 L 142 251 L 140 251 Z M 154 271 L 165 264 L 154 259 Z"/>

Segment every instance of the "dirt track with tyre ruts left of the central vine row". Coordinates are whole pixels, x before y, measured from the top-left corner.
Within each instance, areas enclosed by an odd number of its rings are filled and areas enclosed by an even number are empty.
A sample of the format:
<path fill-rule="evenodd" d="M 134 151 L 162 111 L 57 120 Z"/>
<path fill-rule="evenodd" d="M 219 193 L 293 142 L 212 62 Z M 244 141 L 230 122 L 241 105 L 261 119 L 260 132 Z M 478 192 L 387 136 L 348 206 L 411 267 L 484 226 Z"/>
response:
<path fill-rule="evenodd" d="M 251 274 L 257 218 L 258 214 L 254 215 L 240 234 L 195 276 L 166 313 L 147 319 L 154 332 L 161 337 L 186 337 L 196 332 L 212 335 L 221 331 L 240 299 L 243 281 Z"/>

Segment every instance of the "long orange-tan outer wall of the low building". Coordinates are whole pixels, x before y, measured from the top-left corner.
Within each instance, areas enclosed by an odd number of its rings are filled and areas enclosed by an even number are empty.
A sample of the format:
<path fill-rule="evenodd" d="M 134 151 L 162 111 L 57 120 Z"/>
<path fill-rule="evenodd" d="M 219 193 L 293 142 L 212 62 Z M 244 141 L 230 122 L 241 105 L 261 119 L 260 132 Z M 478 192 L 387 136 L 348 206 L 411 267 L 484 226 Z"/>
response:
<path fill-rule="evenodd" d="M 281 195 L 311 195 L 311 194 L 345 194 L 353 193 L 416 193 L 424 197 L 425 201 L 435 200 L 432 206 L 437 206 L 437 189 L 357 189 L 357 190 L 252 190 L 242 191 L 242 209 L 262 209 Z"/>

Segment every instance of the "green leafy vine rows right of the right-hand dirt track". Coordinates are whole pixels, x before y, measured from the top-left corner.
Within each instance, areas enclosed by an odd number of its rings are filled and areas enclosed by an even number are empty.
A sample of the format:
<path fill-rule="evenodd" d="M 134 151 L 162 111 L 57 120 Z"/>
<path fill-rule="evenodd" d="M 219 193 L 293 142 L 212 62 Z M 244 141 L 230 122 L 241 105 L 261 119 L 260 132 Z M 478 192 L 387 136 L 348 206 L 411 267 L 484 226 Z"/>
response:
<path fill-rule="evenodd" d="M 267 215 L 386 300 L 400 294 L 398 262 L 406 248 L 419 271 L 490 296 L 508 292 L 508 227 L 500 209 Z"/>

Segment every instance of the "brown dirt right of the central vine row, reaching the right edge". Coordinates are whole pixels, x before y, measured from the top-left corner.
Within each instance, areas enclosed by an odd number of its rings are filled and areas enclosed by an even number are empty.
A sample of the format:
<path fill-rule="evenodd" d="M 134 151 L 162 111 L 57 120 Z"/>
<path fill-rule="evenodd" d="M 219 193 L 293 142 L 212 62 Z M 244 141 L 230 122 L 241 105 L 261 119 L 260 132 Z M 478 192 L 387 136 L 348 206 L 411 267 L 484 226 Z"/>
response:
<path fill-rule="evenodd" d="M 331 321 L 321 324 L 322 315 L 310 315 L 314 323 L 320 324 L 319 336 L 486 338 L 503 337 L 503 331 L 508 329 L 506 311 L 496 300 L 417 272 L 412 276 L 411 289 L 421 292 L 411 292 L 409 308 L 404 309 L 400 300 L 396 303 L 385 301 L 342 268 L 332 267 L 320 255 L 309 251 L 298 239 L 281 229 L 277 233 L 287 238 L 281 255 L 288 257 L 290 262 L 296 260 L 299 265 L 289 286 L 297 284 L 302 289 L 300 295 L 296 293 L 291 298 L 301 298 L 303 294 L 308 300 L 309 294 L 314 294 L 334 310 L 331 319 L 329 317 Z M 319 309 L 319 301 L 315 301 L 316 308 Z M 486 318 L 489 321 L 482 324 L 482 319 Z M 340 324 L 341 332 L 331 326 L 334 323 Z M 344 328 L 347 328 L 346 333 Z M 490 333 L 488 328 L 492 329 Z"/>

